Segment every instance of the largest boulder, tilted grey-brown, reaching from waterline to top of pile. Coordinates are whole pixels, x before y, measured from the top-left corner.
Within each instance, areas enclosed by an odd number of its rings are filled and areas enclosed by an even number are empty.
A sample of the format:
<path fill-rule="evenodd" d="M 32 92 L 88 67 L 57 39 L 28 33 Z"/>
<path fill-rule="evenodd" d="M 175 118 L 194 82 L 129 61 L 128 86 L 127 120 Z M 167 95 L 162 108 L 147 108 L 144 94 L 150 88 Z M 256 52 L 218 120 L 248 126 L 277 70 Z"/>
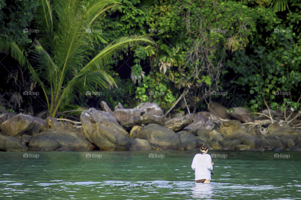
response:
<path fill-rule="evenodd" d="M 101 150 L 128 150 L 129 134 L 117 123 L 112 114 L 90 108 L 81 114 L 84 136 Z"/>

